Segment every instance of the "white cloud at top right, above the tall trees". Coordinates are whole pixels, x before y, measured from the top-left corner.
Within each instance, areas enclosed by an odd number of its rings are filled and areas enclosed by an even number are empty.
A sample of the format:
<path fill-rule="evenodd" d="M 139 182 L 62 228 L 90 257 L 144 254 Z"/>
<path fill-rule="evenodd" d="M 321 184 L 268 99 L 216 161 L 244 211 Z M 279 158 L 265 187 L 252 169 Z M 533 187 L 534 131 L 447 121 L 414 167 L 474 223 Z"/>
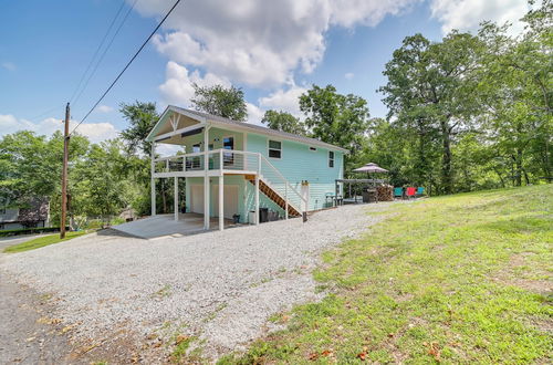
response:
<path fill-rule="evenodd" d="M 452 29 L 474 31 L 480 22 L 490 20 L 503 24 L 513 23 L 511 32 L 517 34 L 523 25 L 519 21 L 526 11 L 526 0 L 432 0 L 432 17 L 442 25 L 441 31 L 448 33 Z"/>

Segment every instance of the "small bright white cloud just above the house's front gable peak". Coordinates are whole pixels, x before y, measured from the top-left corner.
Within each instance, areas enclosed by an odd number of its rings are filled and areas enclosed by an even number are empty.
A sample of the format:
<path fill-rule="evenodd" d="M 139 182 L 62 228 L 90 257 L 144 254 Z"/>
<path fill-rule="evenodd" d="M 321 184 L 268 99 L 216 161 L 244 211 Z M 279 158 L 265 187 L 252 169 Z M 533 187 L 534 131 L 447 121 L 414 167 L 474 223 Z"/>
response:
<path fill-rule="evenodd" d="M 212 86 L 216 84 L 230 86 L 230 82 L 226 79 L 218 77 L 212 73 L 201 76 L 198 70 L 190 73 L 187 67 L 169 61 L 166 69 L 166 82 L 159 86 L 164 102 L 189 107 L 190 98 L 194 96 L 194 83 L 200 86 Z"/>

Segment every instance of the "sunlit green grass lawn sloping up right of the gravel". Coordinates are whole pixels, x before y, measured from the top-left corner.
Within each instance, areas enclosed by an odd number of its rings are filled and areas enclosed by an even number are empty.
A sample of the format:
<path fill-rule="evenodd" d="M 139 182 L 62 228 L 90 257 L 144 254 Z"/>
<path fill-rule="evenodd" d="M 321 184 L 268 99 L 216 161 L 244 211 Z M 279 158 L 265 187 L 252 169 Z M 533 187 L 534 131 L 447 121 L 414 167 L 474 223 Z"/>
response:
<path fill-rule="evenodd" d="M 551 363 L 553 185 L 394 205 L 228 363 Z"/>

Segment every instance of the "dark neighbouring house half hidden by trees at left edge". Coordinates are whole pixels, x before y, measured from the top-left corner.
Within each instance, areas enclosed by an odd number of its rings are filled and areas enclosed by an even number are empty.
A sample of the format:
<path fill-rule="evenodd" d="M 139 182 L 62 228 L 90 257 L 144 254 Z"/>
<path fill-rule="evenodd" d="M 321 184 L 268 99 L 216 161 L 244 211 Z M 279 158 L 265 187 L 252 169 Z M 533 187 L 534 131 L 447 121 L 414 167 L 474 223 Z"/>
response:
<path fill-rule="evenodd" d="M 0 208 L 0 230 L 48 226 L 48 199 L 35 198 L 20 208 Z"/>

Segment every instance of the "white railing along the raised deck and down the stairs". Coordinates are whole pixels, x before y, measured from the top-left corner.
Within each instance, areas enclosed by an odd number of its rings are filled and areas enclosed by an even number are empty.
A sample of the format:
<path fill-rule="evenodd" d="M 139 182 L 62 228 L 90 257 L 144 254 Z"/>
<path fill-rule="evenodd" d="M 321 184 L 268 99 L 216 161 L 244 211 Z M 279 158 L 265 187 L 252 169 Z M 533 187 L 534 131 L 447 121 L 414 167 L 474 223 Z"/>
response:
<path fill-rule="evenodd" d="M 205 171 L 204 152 L 159 157 L 154 159 L 153 175 L 176 173 L 175 176 L 186 176 L 185 173 Z M 259 178 L 276 192 L 285 202 L 284 212 L 288 218 L 289 205 L 298 212 L 307 211 L 307 200 L 290 181 L 260 153 L 234 149 L 215 149 L 207 152 L 208 170 L 220 174 L 237 173 L 258 175 Z M 222 168 L 221 168 L 222 161 Z M 182 175 L 178 174 L 182 173 Z"/>

